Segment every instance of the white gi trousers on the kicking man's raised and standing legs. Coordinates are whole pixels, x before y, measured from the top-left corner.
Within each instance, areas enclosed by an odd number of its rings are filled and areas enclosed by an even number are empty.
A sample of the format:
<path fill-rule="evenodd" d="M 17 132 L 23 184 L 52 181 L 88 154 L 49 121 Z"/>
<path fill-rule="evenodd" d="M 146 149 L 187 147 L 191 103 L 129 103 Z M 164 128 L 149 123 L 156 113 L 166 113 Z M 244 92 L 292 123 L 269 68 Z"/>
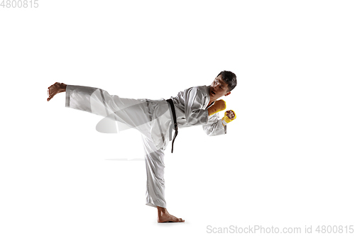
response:
<path fill-rule="evenodd" d="M 146 159 L 146 205 L 166 208 L 164 150 L 151 137 L 152 114 L 157 103 L 147 99 L 122 99 L 103 89 L 67 85 L 65 106 L 115 120 L 141 133 Z M 122 127 L 122 126 L 121 126 Z"/>

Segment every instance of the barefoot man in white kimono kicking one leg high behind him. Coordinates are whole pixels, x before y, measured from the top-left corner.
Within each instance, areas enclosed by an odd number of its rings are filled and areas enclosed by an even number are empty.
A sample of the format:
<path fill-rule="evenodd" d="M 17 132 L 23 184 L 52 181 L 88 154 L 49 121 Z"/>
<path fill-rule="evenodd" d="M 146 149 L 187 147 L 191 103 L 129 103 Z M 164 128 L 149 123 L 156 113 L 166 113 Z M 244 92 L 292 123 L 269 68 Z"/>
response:
<path fill-rule="evenodd" d="M 168 213 L 165 203 L 164 150 L 178 128 L 202 125 L 207 135 L 226 134 L 226 125 L 236 118 L 226 108 L 222 96 L 231 94 L 236 86 L 233 72 L 220 72 L 210 86 L 195 86 L 180 91 L 178 96 L 165 100 L 123 99 L 102 89 L 55 83 L 48 87 L 48 99 L 66 92 L 65 106 L 104 116 L 119 123 L 121 128 L 136 128 L 141 132 L 146 152 L 146 205 L 158 208 L 158 222 L 184 222 Z M 176 125 L 177 124 L 177 125 Z M 175 140 L 175 137 L 174 137 Z M 174 142 L 173 140 L 173 142 Z M 172 150 L 173 152 L 173 150 Z"/>

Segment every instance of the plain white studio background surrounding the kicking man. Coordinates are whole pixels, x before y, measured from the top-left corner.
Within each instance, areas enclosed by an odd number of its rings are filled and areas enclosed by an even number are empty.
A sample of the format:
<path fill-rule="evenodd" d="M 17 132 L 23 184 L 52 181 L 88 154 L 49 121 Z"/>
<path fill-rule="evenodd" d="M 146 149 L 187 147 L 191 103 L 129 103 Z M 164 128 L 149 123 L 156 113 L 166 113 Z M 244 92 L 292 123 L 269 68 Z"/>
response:
<path fill-rule="evenodd" d="M 0 235 L 204 235 L 354 225 L 354 1 L 38 1 L 0 8 Z M 238 79 L 228 133 L 179 131 L 168 210 L 145 205 L 135 130 L 46 101 L 55 82 L 168 99 Z"/>

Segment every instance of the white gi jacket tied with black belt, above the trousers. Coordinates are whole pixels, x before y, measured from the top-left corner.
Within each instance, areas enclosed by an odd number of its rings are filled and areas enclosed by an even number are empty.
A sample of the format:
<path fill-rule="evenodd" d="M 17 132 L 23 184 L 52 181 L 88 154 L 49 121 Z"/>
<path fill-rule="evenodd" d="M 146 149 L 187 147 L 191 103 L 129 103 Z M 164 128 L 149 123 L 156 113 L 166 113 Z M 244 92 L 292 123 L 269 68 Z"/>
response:
<path fill-rule="evenodd" d="M 208 116 L 209 86 L 195 86 L 185 91 L 180 91 L 178 96 L 171 97 L 175 106 L 175 114 L 178 128 L 202 125 L 207 135 L 224 135 L 226 126 L 218 113 Z M 168 142 L 172 139 L 173 115 L 165 99 L 151 101 L 153 110 L 151 137 L 155 146 L 165 150 Z M 210 105 L 212 106 L 214 102 Z"/>

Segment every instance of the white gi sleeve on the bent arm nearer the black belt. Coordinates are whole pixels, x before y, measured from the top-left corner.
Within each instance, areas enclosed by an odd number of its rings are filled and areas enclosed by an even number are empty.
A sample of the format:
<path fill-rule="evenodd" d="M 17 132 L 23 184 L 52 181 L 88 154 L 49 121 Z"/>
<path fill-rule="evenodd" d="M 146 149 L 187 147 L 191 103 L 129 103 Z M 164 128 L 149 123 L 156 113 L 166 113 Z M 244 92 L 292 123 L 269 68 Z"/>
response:
<path fill-rule="evenodd" d="M 185 117 L 189 125 L 206 124 L 208 110 L 202 109 L 204 94 L 198 87 L 192 87 L 185 93 Z"/>

